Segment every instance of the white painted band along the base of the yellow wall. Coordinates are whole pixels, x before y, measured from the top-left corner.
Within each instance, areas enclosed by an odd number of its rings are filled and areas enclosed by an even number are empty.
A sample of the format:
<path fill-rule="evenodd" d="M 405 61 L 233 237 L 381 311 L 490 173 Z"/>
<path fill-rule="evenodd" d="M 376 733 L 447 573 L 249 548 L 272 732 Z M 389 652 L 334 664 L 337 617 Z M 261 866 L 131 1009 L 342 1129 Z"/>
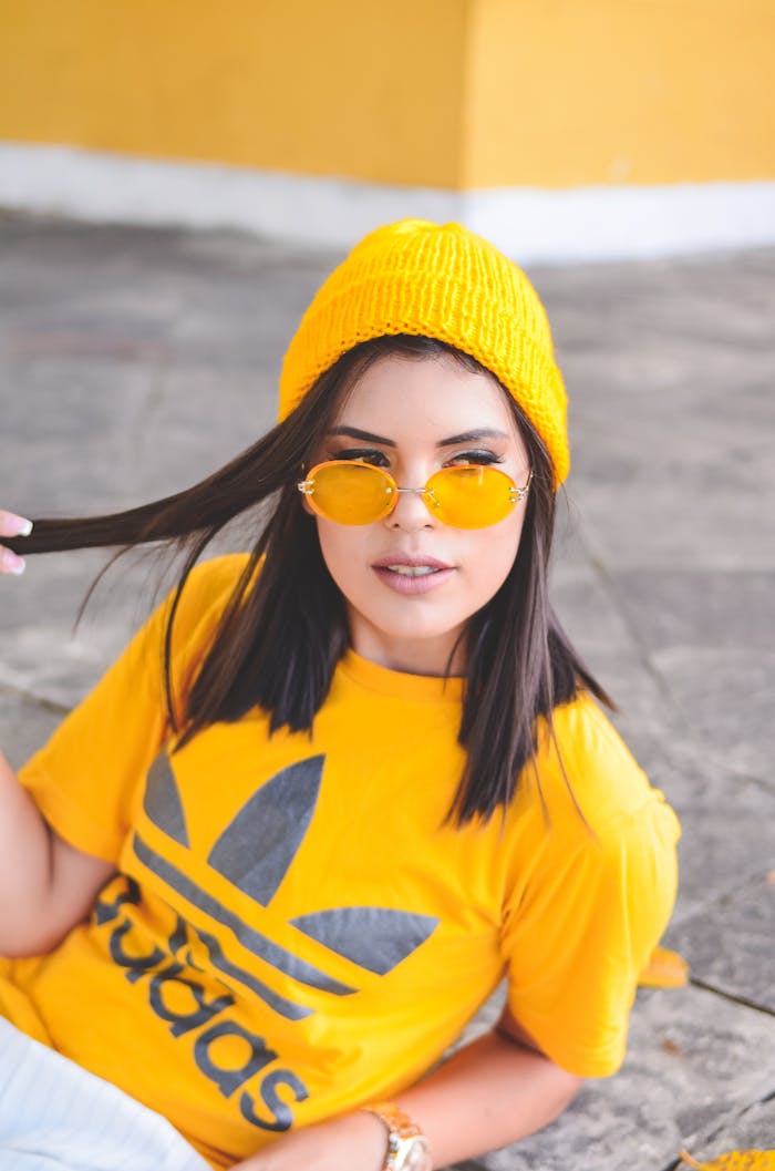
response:
<path fill-rule="evenodd" d="M 457 219 L 524 263 L 775 244 L 775 182 L 455 193 L 11 142 L 0 142 L 0 206 L 337 248 L 404 215 Z"/>

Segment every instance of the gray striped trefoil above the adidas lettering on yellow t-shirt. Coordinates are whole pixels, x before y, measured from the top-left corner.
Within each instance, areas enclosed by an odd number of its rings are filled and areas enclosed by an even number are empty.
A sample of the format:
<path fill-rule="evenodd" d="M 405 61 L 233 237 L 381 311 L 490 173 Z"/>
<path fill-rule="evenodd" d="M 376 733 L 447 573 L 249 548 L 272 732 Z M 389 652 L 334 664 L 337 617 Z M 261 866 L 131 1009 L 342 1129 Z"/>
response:
<path fill-rule="evenodd" d="M 261 906 L 270 905 L 302 847 L 317 806 L 324 762 L 323 755 L 309 756 L 273 776 L 242 806 L 207 856 L 214 870 Z M 169 837 L 190 847 L 185 809 L 166 753 L 157 758 L 149 772 L 144 808 Z M 277 971 L 336 997 L 358 991 L 249 926 L 137 834 L 135 852 L 159 878 L 228 927 L 244 947 Z M 377 975 L 386 975 L 411 956 L 439 923 L 434 916 L 383 906 L 335 906 L 289 922 L 329 951 Z M 290 1020 L 313 1014 L 314 1009 L 280 997 L 253 973 L 227 960 L 212 937 L 201 932 L 200 937 L 214 966 L 251 987 L 275 1012 Z"/>

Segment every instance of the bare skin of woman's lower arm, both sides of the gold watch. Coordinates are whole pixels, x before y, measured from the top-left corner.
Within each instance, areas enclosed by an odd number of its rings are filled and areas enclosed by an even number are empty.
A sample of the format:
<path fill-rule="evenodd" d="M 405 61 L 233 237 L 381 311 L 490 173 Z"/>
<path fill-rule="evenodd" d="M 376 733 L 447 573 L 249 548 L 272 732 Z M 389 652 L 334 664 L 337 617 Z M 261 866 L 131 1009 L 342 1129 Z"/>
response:
<path fill-rule="evenodd" d="M 482 1155 L 540 1130 L 564 1110 L 582 1078 L 517 1040 L 503 1016 L 492 1033 L 459 1049 L 398 1105 L 431 1143 L 433 1166 Z M 234 1171 L 379 1171 L 382 1122 L 364 1110 L 294 1131 Z"/>

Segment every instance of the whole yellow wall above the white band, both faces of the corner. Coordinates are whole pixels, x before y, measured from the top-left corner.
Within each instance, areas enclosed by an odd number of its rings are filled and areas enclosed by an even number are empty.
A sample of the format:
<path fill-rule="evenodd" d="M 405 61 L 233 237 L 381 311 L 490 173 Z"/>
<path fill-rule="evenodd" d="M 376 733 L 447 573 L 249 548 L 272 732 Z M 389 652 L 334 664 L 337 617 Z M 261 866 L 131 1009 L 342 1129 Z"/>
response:
<path fill-rule="evenodd" d="M 0 0 L 0 138 L 411 186 L 775 177 L 773 0 Z"/>

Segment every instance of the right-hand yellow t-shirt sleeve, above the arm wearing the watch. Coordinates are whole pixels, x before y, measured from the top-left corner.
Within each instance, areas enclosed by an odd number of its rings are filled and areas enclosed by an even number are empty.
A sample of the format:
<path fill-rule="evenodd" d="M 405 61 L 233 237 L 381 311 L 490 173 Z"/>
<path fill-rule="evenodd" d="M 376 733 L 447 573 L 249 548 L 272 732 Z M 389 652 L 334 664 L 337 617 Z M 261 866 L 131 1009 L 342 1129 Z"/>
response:
<path fill-rule="evenodd" d="M 658 790 L 533 868 L 503 930 L 508 1006 L 556 1064 L 582 1077 L 624 1060 L 638 977 L 670 918 L 678 820 Z"/>

